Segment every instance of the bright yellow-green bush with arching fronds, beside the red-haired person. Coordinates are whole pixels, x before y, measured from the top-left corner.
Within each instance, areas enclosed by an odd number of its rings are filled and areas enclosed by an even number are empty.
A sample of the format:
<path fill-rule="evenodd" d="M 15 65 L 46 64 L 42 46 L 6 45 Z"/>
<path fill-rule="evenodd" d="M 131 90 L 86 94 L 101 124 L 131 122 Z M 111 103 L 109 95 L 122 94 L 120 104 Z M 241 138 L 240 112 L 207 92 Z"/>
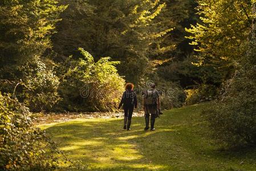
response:
<path fill-rule="evenodd" d="M 116 64 L 111 58 L 94 58 L 79 48 L 83 58 L 66 60 L 60 70 L 64 74 L 60 84 L 63 101 L 60 105 L 68 111 L 113 111 L 119 102 L 124 79 L 117 74 Z"/>

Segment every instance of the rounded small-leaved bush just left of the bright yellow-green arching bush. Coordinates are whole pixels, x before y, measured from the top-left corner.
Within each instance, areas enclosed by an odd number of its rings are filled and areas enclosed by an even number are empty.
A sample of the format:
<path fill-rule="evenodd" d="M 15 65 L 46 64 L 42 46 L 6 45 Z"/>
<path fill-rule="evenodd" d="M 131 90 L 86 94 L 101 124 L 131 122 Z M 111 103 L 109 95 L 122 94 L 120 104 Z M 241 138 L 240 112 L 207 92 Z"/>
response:
<path fill-rule="evenodd" d="M 58 94 L 59 78 L 55 75 L 53 67 L 45 62 L 37 61 L 22 67 L 24 84 L 19 99 L 31 111 L 51 111 L 60 100 Z"/>

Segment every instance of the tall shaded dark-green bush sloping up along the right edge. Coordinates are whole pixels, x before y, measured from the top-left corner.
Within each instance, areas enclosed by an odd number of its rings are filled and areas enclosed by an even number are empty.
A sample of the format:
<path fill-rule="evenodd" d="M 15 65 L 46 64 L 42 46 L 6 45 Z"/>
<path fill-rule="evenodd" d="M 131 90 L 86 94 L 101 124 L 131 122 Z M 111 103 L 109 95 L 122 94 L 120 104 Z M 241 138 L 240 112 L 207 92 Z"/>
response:
<path fill-rule="evenodd" d="M 219 102 L 204 111 L 213 136 L 229 146 L 256 144 L 256 60 L 250 43 Z"/>

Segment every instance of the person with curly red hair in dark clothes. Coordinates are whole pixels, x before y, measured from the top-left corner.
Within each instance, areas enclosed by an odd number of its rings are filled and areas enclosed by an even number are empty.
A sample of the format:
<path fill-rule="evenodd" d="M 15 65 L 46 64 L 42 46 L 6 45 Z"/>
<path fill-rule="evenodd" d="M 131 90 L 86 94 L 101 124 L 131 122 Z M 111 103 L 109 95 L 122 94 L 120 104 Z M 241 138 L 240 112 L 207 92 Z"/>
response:
<path fill-rule="evenodd" d="M 131 130 L 132 123 L 132 113 L 134 107 L 137 108 L 137 96 L 133 91 L 134 85 L 132 83 L 127 83 L 125 86 L 125 92 L 123 93 L 122 99 L 119 104 L 119 109 L 123 105 L 124 108 L 124 129 L 127 131 Z"/>

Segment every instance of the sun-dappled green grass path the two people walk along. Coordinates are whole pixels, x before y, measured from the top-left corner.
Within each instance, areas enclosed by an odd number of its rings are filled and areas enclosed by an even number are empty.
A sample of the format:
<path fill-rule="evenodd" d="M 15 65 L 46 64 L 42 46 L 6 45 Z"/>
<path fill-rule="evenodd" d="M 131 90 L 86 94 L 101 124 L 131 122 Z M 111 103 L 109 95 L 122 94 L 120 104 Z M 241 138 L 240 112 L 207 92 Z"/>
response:
<path fill-rule="evenodd" d="M 221 151 L 209 137 L 200 111 L 209 104 L 172 109 L 145 132 L 144 118 L 76 119 L 41 125 L 68 157 L 88 170 L 256 170 L 256 150 Z"/>

